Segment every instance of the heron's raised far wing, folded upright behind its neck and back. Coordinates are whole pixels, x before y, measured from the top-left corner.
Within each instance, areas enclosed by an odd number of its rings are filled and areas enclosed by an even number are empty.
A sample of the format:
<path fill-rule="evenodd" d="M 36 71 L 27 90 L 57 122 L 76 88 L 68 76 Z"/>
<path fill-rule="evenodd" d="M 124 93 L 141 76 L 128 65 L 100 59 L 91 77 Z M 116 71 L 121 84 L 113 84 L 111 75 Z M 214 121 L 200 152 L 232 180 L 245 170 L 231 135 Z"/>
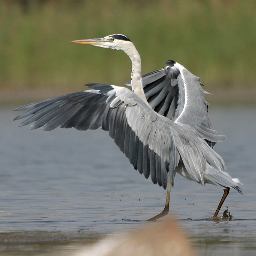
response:
<path fill-rule="evenodd" d="M 185 118 L 181 122 L 193 127 L 211 147 L 226 140 L 225 135 L 216 135 L 217 132 L 211 129 L 208 103 L 204 98 L 204 94 L 208 93 L 202 89 L 203 84 L 199 82 L 199 77 L 175 61 L 168 60 L 166 63 L 167 67 L 143 76 L 144 93 L 152 109 L 176 121 L 184 109 L 185 86 L 188 85 L 191 92 L 197 95 L 192 95 L 196 96 L 196 100 L 189 102 Z M 186 80 L 189 80 L 189 83 L 186 83 Z M 130 85 L 130 82 L 126 85 Z"/>

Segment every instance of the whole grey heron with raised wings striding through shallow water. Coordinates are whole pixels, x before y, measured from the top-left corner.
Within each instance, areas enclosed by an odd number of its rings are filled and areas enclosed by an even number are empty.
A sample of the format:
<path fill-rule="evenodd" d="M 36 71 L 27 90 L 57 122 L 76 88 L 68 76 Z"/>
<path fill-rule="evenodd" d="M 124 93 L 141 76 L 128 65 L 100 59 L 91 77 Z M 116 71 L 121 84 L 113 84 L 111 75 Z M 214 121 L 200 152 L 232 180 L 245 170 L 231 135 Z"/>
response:
<path fill-rule="evenodd" d="M 132 63 L 131 85 L 88 84 L 89 90 L 31 103 L 14 120 L 27 118 L 19 127 L 50 131 L 57 127 L 108 131 L 135 170 L 167 189 L 164 210 L 149 220 L 168 214 L 170 191 L 179 173 L 189 180 L 224 189 L 214 217 L 230 188 L 243 193 L 239 179 L 226 172 L 226 164 L 213 146 L 226 139 L 211 129 L 208 103 L 199 77 L 175 61 L 141 76 L 141 58 L 128 37 L 113 34 L 100 39 L 73 41 L 124 51 Z M 143 88 L 144 86 L 144 88 Z M 29 110 L 28 110 L 29 109 Z"/>

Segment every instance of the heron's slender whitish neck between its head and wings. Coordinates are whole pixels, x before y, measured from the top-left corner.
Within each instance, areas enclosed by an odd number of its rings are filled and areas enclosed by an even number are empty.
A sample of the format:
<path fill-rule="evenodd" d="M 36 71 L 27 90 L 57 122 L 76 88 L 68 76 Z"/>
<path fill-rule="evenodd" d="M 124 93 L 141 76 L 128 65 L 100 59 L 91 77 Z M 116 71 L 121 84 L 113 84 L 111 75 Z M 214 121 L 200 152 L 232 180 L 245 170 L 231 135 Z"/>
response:
<path fill-rule="evenodd" d="M 143 91 L 140 54 L 138 53 L 137 49 L 133 44 L 132 44 L 132 47 L 126 49 L 125 53 L 129 56 L 132 63 L 132 72 L 131 72 L 132 91 L 148 104 Z"/>

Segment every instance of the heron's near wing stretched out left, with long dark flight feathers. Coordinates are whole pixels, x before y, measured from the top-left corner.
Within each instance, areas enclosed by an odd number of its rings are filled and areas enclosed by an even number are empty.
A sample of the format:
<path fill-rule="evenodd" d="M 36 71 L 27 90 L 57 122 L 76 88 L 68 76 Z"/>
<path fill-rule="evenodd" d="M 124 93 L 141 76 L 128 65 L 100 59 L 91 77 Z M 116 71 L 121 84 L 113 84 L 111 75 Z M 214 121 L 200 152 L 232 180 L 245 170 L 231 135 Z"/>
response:
<path fill-rule="evenodd" d="M 145 103 L 133 92 L 117 86 L 91 84 L 92 90 L 76 92 L 31 103 L 16 110 L 28 110 L 15 120 L 27 118 L 19 126 L 30 125 L 29 129 L 52 130 L 74 127 L 78 130 L 97 129 L 109 131 L 122 152 L 125 153 L 135 170 L 153 183 L 166 188 L 168 173 L 174 179 L 174 169 L 179 158 L 176 155 L 172 135 L 164 127 L 159 132 L 155 112 L 143 112 Z M 126 94 L 129 94 L 127 97 Z"/>

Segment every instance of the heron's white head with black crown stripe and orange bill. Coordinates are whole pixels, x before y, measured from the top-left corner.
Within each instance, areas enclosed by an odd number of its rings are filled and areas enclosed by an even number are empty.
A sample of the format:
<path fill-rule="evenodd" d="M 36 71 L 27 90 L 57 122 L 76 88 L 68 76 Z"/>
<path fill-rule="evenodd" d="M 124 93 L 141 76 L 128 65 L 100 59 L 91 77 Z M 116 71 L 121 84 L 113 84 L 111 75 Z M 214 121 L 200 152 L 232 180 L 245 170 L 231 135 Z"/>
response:
<path fill-rule="evenodd" d="M 113 34 L 103 38 L 76 40 L 72 42 L 123 51 L 125 51 L 125 48 L 132 44 L 131 40 L 127 36 L 121 34 Z"/>

